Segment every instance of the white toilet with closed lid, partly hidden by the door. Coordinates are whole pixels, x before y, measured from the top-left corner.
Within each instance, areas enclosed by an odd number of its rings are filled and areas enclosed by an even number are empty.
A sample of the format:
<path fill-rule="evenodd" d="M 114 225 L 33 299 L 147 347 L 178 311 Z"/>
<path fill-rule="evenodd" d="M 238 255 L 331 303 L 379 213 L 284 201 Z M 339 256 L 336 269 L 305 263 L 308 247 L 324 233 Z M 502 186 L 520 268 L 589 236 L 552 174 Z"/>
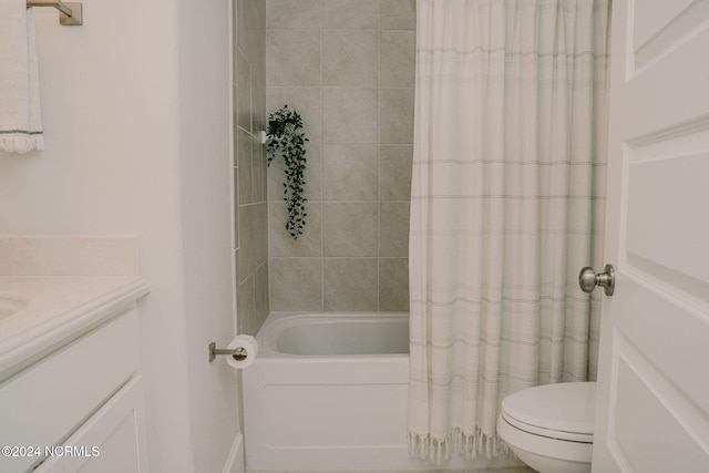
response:
<path fill-rule="evenodd" d="M 594 443 L 595 382 L 538 385 L 502 401 L 497 434 L 541 473 L 587 473 Z"/>

